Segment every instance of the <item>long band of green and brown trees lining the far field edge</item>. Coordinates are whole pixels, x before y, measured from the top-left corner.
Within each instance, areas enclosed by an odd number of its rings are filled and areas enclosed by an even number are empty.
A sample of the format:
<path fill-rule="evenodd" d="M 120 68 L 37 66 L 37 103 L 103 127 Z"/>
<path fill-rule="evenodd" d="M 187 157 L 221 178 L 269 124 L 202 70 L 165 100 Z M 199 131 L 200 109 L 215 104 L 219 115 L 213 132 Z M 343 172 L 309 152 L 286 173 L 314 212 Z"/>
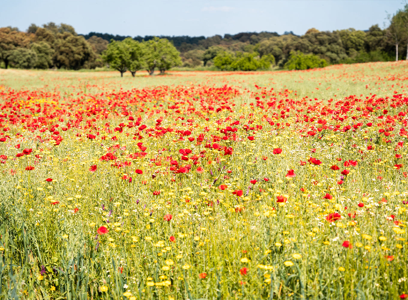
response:
<path fill-rule="evenodd" d="M 302 36 L 291 31 L 283 35 L 264 31 L 207 38 L 132 38 L 96 32 L 78 35 L 70 25 L 50 22 L 42 27 L 31 24 L 26 32 L 0 28 L 0 60 L 5 68 L 9 65 L 25 69 L 109 66 L 129 70 L 134 75 L 136 69 L 146 69 L 149 73 L 159 69 L 163 73 L 173 66 L 249 71 L 269 69 L 271 65 L 308 69 L 328 64 L 408 59 L 408 4 L 388 20 L 386 29 L 377 24 L 366 31 L 312 28 Z M 157 47 L 163 48 L 146 50 Z M 118 53 L 126 55 L 120 54 L 118 58 L 115 56 Z M 151 59 L 155 61 L 153 67 L 149 63 Z"/>

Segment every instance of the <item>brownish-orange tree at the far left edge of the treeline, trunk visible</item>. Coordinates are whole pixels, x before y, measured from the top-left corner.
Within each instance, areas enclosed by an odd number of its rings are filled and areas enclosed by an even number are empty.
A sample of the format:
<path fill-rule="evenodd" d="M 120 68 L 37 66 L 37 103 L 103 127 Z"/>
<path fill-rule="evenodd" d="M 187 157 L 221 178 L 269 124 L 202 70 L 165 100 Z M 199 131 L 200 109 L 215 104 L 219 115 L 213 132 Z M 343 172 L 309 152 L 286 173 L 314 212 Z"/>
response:
<path fill-rule="evenodd" d="M 30 38 L 26 33 L 15 28 L 0 28 L 0 59 L 4 62 L 6 69 L 13 51 L 18 48 L 27 48 L 29 43 Z"/>

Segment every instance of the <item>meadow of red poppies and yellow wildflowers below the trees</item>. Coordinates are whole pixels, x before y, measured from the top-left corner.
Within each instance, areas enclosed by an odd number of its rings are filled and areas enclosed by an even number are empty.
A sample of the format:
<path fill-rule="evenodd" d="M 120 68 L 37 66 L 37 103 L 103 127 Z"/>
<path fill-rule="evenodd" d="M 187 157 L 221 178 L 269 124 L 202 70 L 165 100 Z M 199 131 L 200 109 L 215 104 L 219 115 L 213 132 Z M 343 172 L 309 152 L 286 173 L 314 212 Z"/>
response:
<path fill-rule="evenodd" d="M 407 69 L 1 69 L 0 298 L 408 298 Z"/>

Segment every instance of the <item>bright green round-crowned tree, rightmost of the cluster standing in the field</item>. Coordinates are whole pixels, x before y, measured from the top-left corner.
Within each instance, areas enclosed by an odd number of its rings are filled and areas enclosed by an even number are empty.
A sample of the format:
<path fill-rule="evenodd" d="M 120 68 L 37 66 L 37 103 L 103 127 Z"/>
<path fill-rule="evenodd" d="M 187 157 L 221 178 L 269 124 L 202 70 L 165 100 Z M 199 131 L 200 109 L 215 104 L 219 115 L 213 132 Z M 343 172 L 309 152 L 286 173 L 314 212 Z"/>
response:
<path fill-rule="evenodd" d="M 142 42 L 144 48 L 144 67 L 150 75 L 154 70 L 160 70 L 163 74 L 171 67 L 182 64 L 180 52 L 165 38 L 153 38 Z"/>

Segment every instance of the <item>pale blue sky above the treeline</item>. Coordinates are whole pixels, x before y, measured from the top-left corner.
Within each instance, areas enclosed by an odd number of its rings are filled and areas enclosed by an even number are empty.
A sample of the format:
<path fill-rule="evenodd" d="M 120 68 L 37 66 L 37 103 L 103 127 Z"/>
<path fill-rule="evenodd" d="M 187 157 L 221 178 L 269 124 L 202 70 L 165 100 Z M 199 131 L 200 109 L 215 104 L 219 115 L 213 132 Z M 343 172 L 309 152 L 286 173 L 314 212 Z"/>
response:
<path fill-rule="evenodd" d="M 225 33 L 293 31 L 303 35 L 373 24 L 388 25 L 387 13 L 404 0 L 0 0 L 0 27 L 27 30 L 31 23 L 72 25 L 122 36 L 214 36 Z"/>

